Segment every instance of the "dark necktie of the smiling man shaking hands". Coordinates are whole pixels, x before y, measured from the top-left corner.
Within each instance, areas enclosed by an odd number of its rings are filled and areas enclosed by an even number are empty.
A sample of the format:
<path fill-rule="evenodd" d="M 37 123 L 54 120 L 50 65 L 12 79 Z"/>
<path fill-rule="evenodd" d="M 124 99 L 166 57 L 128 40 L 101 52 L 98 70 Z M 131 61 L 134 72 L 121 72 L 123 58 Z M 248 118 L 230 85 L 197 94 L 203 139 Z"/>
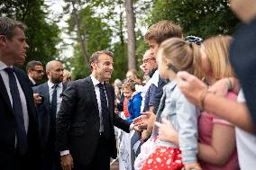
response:
<path fill-rule="evenodd" d="M 110 124 L 109 124 L 109 112 L 107 108 L 105 89 L 104 89 L 104 85 L 102 85 L 101 83 L 98 84 L 98 87 L 99 87 L 99 93 L 100 93 L 101 115 L 102 115 L 103 125 L 104 125 L 104 135 L 106 138 L 108 138 L 109 132 L 110 132 Z"/>

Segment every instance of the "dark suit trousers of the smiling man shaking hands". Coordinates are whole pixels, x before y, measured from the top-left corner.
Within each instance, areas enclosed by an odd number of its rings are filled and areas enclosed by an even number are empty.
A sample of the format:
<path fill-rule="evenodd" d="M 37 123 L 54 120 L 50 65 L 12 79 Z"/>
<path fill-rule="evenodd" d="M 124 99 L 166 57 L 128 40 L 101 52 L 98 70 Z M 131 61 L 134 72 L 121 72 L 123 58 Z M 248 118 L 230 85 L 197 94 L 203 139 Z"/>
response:
<path fill-rule="evenodd" d="M 109 170 L 110 169 L 110 145 L 104 135 L 100 135 L 96 154 L 93 160 L 86 166 L 74 163 L 75 170 Z M 88 146 L 89 147 L 89 146 Z"/>

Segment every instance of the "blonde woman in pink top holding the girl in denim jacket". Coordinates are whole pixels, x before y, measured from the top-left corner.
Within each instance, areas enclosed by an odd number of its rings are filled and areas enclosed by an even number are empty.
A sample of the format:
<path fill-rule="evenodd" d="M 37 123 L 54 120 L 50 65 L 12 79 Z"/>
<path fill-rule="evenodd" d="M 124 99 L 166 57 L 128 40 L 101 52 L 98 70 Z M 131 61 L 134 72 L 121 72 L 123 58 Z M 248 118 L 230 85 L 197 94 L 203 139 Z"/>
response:
<path fill-rule="evenodd" d="M 228 58 L 230 36 L 215 36 L 203 42 L 201 69 L 206 84 L 214 85 L 217 80 L 234 76 Z M 205 94 L 202 94 L 204 98 Z M 226 97 L 236 100 L 236 94 L 229 91 Z M 203 99 L 204 100 L 204 99 Z M 202 105 L 204 110 L 204 105 Z M 171 125 L 160 124 L 160 134 L 169 141 L 178 143 L 178 133 Z M 228 121 L 211 112 L 201 112 L 198 120 L 198 162 L 207 170 L 238 170 L 238 157 L 235 147 L 234 127 Z"/>

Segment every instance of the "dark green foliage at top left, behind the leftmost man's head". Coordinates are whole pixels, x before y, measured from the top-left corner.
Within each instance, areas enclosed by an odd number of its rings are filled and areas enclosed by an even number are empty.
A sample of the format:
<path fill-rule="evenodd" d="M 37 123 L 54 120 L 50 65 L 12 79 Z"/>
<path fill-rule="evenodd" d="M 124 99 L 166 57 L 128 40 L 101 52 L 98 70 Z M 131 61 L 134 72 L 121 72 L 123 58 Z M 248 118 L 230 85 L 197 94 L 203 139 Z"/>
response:
<path fill-rule="evenodd" d="M 27 52 L 26 62 L 40 60 L 46 64 L 59 57 L 55 47 L 60 41 L 59 28 L 55 22 L 47 22 L 46 8 L 43 0 L 4 0 L 0 5 L 2 16 L 24 22 L 28 26 L 26 36 L 30 49 Z"/>

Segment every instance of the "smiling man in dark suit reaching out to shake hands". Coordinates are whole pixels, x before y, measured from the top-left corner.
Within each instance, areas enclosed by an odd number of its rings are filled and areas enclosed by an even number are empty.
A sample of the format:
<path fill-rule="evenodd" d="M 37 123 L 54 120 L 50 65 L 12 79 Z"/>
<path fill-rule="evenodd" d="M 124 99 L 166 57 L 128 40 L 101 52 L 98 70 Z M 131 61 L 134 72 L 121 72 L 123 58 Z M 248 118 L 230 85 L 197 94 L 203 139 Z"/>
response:
<path fill-rule="evenodd" d="M 97 51 L 90 66 L 90 76 L 69 83 L 57 115 L 57 149 L 66 170 L 110 169 L 110 157 L 116 157 L 114 126 L 126 132 L 132 128 L 114 114 L 114 87 L 105 83 L 112 75 L 113 54 Z"/>

